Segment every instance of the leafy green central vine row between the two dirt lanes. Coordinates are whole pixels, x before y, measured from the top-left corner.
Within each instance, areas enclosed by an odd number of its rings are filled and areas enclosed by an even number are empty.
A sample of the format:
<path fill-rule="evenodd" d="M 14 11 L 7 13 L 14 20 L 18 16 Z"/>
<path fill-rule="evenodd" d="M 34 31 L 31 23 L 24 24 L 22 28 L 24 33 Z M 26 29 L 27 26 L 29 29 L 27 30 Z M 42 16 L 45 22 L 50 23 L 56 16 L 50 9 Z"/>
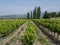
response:
<path fill-rule="evenodd" d="M 27 30 L 23 36 L 24 45 L 33 44 L 33 42 L 35 40 L 35 33 L 36 33 L 36 29 L 35 29 L 34 25 L 32 24 L 32 22 L 29 22 L 29 24 L 27 26 Z"/>

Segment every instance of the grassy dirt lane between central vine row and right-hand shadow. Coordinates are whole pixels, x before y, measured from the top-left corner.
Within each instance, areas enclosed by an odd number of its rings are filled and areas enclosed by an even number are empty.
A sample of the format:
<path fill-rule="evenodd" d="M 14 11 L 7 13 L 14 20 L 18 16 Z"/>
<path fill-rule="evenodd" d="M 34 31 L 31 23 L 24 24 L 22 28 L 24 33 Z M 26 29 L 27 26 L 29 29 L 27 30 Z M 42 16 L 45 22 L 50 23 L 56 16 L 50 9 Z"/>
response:
<path fill-rule="evenodd" d="M 47 36 L 45 36 L 41 29 L 35 24 L 37 29 L 37 40 L 41 43 L 41 45 L 55 45 Z"/>

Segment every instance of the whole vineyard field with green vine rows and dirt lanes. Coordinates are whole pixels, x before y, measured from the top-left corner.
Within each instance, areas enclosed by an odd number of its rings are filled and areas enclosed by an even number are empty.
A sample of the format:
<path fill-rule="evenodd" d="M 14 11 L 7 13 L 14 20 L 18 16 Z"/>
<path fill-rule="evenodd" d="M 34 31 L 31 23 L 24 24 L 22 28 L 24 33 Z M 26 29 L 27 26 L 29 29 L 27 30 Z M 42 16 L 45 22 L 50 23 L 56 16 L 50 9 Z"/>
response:
<path fill-rule="evenodd" d="M 60 20 L 2 19 L 0 45 L 60 45 Z"/>

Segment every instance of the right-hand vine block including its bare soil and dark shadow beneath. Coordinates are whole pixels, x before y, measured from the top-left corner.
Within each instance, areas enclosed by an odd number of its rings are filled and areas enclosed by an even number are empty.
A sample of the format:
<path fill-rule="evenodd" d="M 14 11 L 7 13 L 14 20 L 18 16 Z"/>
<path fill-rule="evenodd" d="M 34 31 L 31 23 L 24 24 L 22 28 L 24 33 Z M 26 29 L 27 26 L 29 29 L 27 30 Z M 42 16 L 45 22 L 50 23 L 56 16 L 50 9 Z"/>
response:
<path fill-rule="evenodd" d="M 60 43 L 60 20 L 41 19 L 34 21 L 41 26 L 43 31 L 47 32 L 46 34 L 51 35 L 52 40 Z"/>

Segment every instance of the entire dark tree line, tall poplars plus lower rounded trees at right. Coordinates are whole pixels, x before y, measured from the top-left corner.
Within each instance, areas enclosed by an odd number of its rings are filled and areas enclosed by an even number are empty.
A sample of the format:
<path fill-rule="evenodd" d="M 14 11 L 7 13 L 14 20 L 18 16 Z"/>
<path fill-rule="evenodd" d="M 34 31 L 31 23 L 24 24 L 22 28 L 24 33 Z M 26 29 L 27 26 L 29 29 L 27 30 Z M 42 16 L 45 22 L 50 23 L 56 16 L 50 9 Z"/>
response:
<path fill-rule="evenodd" d="M 41 8 L 35 7 L 33 11 L 27 12 L 27 19 L 40 19 L 41 17 Z M 59 12 L 44 12 L 43 18 L 44 19 L 50 19 L 50 18 L 56 18 L 60 17 L 60 11 Z"/>

